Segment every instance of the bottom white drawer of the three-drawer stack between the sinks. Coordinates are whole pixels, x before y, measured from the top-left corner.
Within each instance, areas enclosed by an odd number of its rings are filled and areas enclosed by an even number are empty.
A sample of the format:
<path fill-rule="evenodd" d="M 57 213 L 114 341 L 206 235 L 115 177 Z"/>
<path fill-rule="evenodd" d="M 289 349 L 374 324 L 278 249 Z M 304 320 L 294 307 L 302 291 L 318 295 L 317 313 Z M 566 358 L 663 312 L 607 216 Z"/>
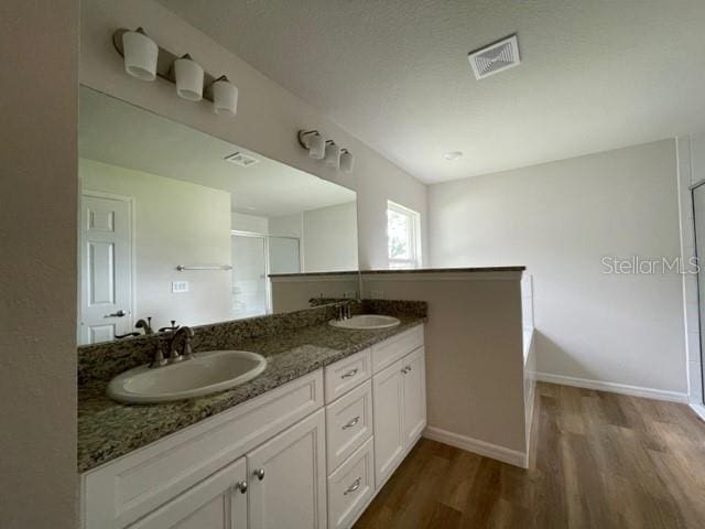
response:
<path fill-rule="evenodd" d="M 348 528 L 375 494 L 375 453 L 368 439 L 328 477 L 328 523 Z"/>

